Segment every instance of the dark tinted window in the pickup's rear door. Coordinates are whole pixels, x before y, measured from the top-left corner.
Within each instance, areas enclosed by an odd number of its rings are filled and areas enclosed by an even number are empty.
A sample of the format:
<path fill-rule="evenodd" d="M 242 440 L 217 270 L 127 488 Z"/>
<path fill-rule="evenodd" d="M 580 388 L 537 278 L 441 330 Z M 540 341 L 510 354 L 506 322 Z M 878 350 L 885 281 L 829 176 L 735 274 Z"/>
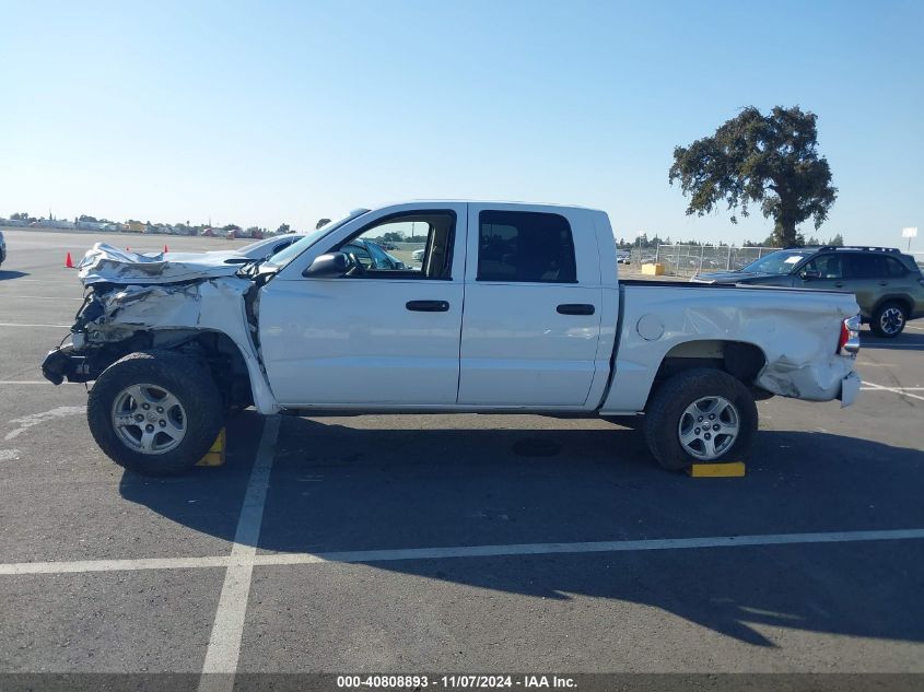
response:
<path fill-rule="evenodd" d="M 478 281 L 576 283 L 571 225 L 560 214 L 482 211 Z"/>

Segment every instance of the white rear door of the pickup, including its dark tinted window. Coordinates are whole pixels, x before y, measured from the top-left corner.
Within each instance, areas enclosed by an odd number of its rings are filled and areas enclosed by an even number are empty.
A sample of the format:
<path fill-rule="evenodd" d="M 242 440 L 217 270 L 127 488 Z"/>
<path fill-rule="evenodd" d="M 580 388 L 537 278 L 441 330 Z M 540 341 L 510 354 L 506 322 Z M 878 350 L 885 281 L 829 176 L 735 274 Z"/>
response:
<path fill-rule="evenodd" d="M 513 204 L 468 219 L 458 402 L 583 406 L 603 295 L 593 223 Z"/>

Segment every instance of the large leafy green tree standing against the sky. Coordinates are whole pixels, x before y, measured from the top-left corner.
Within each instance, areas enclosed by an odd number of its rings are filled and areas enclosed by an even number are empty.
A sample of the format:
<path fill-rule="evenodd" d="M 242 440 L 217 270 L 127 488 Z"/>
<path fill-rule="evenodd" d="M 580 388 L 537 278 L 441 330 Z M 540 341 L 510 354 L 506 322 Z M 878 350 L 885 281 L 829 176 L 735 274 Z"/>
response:
<path fill-rule="evenodd" d="M 669 180 L 689 197 L 687 214 L 702 216 L 725 201 L 747 216 L 760 203 L 776 242 L 799 244 L 796 226 L 809 218 L 821 226 L 838 197 L 828 161 L 818 155 L 817 120 L 798 106 L 765 116 L 749 106 L 712 137 L 676 146 Z"/>

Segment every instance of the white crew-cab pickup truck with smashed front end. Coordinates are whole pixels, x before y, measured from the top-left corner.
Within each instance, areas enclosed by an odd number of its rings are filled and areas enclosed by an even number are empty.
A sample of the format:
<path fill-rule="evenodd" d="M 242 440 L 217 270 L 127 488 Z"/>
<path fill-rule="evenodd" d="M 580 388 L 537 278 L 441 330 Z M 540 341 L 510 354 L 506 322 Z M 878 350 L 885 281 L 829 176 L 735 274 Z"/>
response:
<path fill-rule="evenodd" d="M 386 233 L 425 235 L 420 267 Z M 395 237 L 389 235 L 388 237 Z M 619 281 L 606 213 L 426 201 L 356 210 L 268 260 L 172 261 L 96 245 L 45 376 L 95 380 L 117 464 L 194 466 L 227 417 L 352 412 L 643 414 L 668 469 L 739 459 L 756 399 L 849 406 L 857 305 L 843 293 Z"/>

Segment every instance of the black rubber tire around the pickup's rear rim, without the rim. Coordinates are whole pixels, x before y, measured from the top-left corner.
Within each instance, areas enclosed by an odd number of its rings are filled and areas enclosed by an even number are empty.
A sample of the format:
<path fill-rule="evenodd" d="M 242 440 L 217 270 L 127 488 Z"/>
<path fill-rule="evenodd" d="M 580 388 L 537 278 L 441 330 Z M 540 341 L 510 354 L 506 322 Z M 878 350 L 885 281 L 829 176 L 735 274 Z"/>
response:
<path fill-rule="evenodd" d="M 734 406 L 738 432 L 734 438 L 727 436 L 730 445 L 722 454 L 701 459 L 683 447 L 679 431 L 687 408 L 706 397 L 722 397 Z M 720 370 L 698 367 L 678 373 L 654 392 L 645 411 L 645 441 L 662 467 L 679 471 L 698 461 L 740 461 L 750 449 L 757 424 L 753 395 L 739 379 Z"/>

